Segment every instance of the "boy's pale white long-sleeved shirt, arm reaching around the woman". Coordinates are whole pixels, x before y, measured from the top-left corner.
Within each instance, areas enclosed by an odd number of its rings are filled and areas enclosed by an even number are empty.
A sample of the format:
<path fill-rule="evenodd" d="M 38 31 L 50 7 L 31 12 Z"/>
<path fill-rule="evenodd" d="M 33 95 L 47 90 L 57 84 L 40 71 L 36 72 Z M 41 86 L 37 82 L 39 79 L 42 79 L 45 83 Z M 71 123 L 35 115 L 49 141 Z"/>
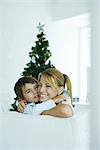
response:
<path fill-rule="evenodd" d="M 35 104 L 34 102 L 32 102 L 26 105 L 23 113 L 30 115 L 40 115 L 43 111 L 49 110 L 55 106 L 56 104 L 52 99 L 39 104 Z"/>

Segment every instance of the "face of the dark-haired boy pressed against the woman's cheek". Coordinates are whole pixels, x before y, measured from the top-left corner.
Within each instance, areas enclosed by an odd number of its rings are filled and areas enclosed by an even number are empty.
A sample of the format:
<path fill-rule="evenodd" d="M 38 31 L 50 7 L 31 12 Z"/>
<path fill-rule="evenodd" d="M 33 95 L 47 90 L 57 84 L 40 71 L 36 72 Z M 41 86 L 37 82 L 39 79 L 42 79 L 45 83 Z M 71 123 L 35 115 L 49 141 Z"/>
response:
<path fill-rule="evenodd" d="M 26 83 L 22 87 L 22 94 L 24 97 L 24 100 L 27 102 L 38 102 L 39 97 L 38 97 L 38 85 L 37 83 Z"/>

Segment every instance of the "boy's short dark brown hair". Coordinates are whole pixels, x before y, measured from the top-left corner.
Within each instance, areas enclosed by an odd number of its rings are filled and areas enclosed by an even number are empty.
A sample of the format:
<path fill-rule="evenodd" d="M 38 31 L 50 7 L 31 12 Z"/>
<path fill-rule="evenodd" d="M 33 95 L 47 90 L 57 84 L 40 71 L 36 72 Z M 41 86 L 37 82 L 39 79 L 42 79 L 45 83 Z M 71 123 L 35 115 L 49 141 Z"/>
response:
<path fill-rule="evenodd" d="M 18 81 L 15 83 L 15 86 L 14 86 L 14 91 L 15 91 L 15 94 L 18 98 L 23 99 L 22 86 L 24 86 L 26 83 L 34 84 L 34 83 L 38 83 L 38 80 L 33 78 L 33 77 L 19 78 Z"/>

